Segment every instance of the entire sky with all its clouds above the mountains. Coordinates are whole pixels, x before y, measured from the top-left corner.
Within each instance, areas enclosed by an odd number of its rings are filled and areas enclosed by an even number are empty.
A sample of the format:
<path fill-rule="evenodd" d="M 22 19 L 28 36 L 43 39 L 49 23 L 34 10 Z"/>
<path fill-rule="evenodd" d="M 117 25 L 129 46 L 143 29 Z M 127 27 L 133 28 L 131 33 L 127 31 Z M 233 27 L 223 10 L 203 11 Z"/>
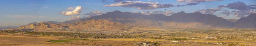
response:
<path fill-rule="evenodd" d="M 114 10 L 167 16 L 180 11 L 200 12 L 239 19 L 256 13 L 255 7 L 256 0 L 1 0 L 0 26 L 66 21 Z"/>

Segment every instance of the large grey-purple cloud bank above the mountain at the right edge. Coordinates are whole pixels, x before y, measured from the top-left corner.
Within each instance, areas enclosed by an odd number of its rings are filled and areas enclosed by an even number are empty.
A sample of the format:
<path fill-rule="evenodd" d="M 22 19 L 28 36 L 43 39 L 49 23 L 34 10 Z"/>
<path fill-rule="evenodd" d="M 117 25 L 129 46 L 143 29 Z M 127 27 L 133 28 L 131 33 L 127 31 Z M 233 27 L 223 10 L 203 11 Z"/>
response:
<path fill-rule="evenodd" d="M 227 15 L 227 16 L 229 16 L 230 14 L 233 14 L 236 17 L 246 17 L 246 16 L 250 15 L 250 13 L 256 13 L 254 11 L 254 9 L 256 9 L 254 6 L 255 5 L 246 5 L 243 2 L 234 2 L 234 3 L 229 3 L 228 5 L 220 5 L 220 6 L 218 6 L 218 8 L 215 8 L 215 9 L 212 9 L 212 8 L 202 9 L 202 10 L 198 10 L 196 12 L 200 12 L 203 14 L 213 14 L 217 11 L 222 11 L 218 14 L 219 15 L 223 14 L 223 15 Z M 221 10 L 222 8 L 228 8 L 233 11 Z"/>

